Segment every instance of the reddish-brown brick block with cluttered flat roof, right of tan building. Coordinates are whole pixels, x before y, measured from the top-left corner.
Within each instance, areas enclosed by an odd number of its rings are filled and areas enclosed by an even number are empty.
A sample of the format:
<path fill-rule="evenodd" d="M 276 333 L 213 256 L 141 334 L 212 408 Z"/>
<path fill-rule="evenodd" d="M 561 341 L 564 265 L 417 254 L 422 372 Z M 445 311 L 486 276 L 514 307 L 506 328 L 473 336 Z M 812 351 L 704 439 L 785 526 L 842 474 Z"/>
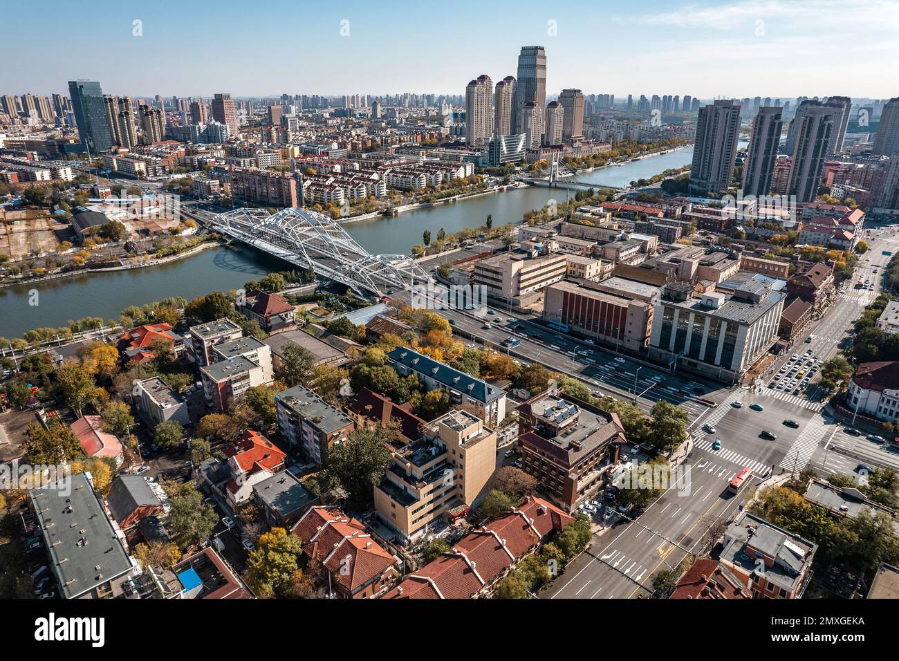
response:
<path fill-rule="evenodd" d="M 618 416 L 552 391 L 516 410 L 521 469 L 549 500 L 571 512 L 595 495 L 627 442 Z"/>

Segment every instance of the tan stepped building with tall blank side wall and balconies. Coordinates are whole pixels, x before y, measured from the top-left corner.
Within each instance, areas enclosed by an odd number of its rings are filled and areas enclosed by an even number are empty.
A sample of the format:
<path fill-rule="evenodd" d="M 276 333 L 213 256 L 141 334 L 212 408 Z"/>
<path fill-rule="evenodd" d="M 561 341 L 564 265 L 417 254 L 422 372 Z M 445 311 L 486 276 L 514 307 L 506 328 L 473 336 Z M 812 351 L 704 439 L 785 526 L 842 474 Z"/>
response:
<path fill-rule="evenodd" d="M 404 540 L 415 540 L 450 511 L 474 505 L 495 468 L 496 433 L 476 415 L 450 411 L 393 451 L 375 509 Z"/>

